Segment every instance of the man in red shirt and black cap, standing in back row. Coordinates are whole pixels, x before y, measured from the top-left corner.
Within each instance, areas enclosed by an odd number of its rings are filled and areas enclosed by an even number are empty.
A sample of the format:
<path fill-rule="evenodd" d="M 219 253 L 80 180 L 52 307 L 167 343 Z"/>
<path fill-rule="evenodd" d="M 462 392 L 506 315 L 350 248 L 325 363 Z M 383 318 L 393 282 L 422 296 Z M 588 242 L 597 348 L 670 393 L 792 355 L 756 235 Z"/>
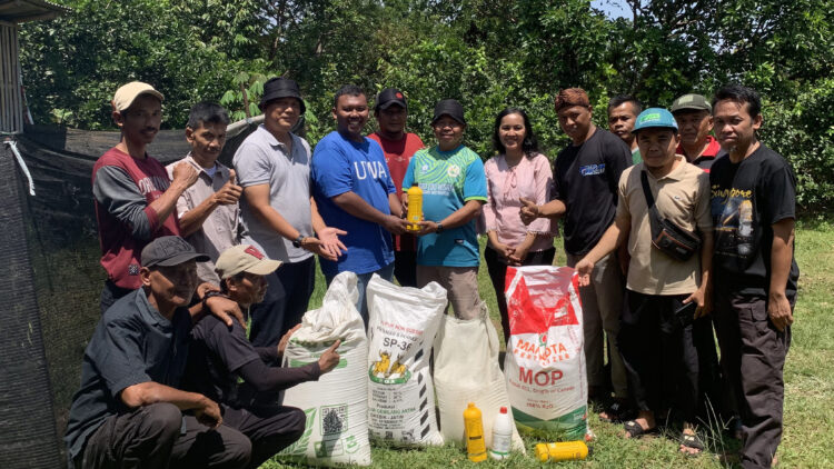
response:
<path fill-rule="evenodd" d="M 415 133 L 406 132 L 408 103 L 406 97 L 396 88 L 386 88 L 377 94 L 374 117 L 379 130 L 368 136 L 383 147 L 388 172 L 397 187 L 397 198 L 403 199 L 403 178 L 417 150 L 424 147 Z M 408 188 L 406 188 L 408 189 Z M 404 287 L 417 287 L 417 251 L 414 234 L 394 237 L 394 276 Z"/>

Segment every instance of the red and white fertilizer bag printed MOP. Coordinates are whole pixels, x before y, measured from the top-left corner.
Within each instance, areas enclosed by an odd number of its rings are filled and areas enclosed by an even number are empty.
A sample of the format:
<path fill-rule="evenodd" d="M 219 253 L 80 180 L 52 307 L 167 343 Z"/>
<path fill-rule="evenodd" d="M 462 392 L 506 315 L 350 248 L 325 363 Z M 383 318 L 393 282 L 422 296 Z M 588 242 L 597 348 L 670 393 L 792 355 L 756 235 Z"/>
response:
<path fill-rule="evenodd" d="M 516 425 L 582 440 L 588 383 L 578 277 L 569 267 L 508 267 L 506 285 L 504 371 Z"/>

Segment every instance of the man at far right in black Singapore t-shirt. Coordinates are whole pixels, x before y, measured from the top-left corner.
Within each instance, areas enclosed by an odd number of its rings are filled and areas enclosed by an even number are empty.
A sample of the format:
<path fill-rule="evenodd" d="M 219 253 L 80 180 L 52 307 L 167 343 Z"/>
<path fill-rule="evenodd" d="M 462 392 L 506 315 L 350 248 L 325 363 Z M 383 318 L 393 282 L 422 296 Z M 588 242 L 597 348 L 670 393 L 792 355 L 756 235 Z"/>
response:
<path fill-rule="evenodd" d="M 793 255 L 796 178 L 756 138 L 762 114 L 754 90 L 718 90 L 713 118 L 727 152 L 709 173 L 722 367 L 741 413 L 742 466 L 770 468 L 782 439 L 783 368 L 800 277 Z"/>

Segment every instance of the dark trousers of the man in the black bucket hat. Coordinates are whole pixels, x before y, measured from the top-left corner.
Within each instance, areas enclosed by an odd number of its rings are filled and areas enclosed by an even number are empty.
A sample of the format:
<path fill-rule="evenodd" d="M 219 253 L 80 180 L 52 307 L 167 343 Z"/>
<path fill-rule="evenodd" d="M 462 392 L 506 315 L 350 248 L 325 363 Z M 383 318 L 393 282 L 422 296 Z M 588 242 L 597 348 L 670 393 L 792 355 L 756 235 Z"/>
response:
<path fill-rule="evenodd" d="M 316 280 L 316 259 L 285 262 L 266 277 L 264 301 L 249 309 L 249 341 L 255 347 L 277 346 L 288 330 L 301 322 Z"/>

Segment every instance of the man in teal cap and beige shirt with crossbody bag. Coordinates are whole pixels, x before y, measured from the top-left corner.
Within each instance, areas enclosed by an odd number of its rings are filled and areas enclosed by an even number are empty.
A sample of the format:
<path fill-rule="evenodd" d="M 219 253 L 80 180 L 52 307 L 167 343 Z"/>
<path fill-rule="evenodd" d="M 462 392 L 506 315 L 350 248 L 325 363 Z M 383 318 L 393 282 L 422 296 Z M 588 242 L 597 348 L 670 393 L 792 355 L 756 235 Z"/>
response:
<path fill-rule="evenodd" d="M 709 218 L 709 179 L 675 154 L 677 124 L 665 109 L 649 108 L 637 117 L 643 162 L 623 171 L 618 184 L 617 216 L 576 270 L 579 285 L 590 281 L 594 263 L 628 243 L 631 261 L 618 336 L 628 383 L 638 416 L 625 422 L 631 438 L 657 429 L 657 419 L 672 410 L 683 420 L 681 451 L 704 449 L 695 432 L 698 397 L 698 357 L 692 340 L 692 320 L 708 313 L 713 236 Z M 685 261 L 667 256 L 652 243 L 653 227 L 644 184 L 652 191 L 661 218 L 688 232 L 697 232 L 701 252 Z M 677 311 L 687 303 L 686 316 Z"/>

